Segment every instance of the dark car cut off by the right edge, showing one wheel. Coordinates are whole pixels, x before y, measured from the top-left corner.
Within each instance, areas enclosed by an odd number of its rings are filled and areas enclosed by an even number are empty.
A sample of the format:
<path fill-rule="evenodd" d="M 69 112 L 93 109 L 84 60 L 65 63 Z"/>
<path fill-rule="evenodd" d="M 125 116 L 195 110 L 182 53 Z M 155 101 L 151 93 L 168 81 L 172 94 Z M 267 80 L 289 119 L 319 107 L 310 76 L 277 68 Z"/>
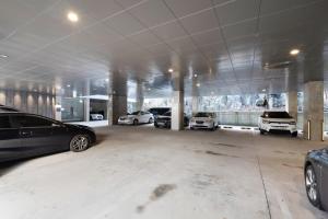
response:
<path fill-rule="evenodd" d="M 328 148 L 307 153 L 304 176 L 308 200 L 315 207 L 328 210 Z"/>

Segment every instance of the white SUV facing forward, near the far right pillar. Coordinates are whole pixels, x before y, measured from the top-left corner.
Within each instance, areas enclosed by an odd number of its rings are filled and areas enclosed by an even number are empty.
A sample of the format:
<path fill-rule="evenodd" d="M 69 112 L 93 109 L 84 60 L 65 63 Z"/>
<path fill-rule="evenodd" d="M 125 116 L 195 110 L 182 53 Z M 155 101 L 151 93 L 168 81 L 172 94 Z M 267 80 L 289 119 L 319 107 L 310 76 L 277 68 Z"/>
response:
<path fill-rule="evenodd" d="M 285 131 L 293 137 L 297 136 L 296 120 L 286 112 L 263 112 L 259 117 L 258 127 L 261 135 L 270 131 Z"/>

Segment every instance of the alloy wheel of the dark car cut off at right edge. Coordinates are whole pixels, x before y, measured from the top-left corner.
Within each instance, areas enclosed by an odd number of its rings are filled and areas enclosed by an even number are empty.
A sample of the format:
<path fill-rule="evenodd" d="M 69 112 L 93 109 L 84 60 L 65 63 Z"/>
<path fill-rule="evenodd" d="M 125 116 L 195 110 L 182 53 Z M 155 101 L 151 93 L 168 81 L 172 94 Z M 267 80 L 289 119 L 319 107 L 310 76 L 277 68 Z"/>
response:
<path fill-rule="evenodd" d="M 311 201 L 311 204 L 317 208 L 321 208 L 317 176 L 313 165 L 308 165 L 305 170 L 305 187 L 307 198 Z"/>

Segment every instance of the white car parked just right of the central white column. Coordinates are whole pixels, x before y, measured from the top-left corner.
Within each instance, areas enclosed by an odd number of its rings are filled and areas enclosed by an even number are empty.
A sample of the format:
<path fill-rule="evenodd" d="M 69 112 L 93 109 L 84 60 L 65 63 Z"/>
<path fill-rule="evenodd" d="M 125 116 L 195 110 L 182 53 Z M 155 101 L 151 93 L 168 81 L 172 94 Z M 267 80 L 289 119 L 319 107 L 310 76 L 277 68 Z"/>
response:
<path fill-rule="evenodd" d="M 219 122 L 216 118 L 215 113 L 207 113 L 207 112 L 199 112 L 197 113 L 189 123 L 190 129 L 196 128 L 206 128 L 214 130 L 218 128 Z"/>

